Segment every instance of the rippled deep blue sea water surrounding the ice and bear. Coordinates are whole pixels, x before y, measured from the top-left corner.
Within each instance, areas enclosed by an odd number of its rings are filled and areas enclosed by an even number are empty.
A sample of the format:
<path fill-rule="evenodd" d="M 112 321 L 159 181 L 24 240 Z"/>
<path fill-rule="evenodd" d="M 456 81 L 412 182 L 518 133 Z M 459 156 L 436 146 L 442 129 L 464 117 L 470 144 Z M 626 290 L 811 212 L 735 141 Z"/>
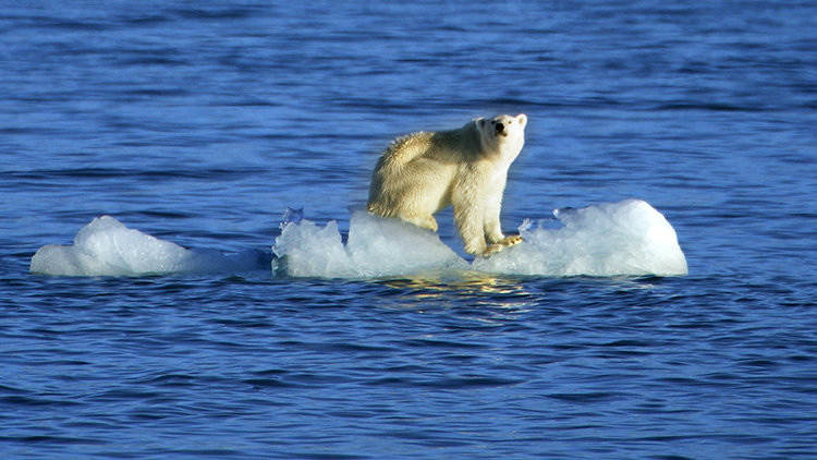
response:
<path fill-rule="evenodd" d="M 0 457 L 817 457 L 817 9 L 620 3 L 4 4 Z M 343 232 L 390 140 L 520 112 L 508 231 L 636 197 L 690 274 L 29 274 Z"/>

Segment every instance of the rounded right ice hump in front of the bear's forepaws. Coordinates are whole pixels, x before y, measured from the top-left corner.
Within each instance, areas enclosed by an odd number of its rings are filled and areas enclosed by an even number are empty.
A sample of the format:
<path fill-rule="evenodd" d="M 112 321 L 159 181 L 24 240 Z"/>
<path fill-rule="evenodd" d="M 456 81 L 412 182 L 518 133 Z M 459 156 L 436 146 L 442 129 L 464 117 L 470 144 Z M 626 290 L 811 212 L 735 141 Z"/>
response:
<path fill-rule="evenodd" d="M 551 277 L 686 275 L 675 230 L 641 199 L 557 209 L 553 215 L 564 227 L 547 229 L 540 221 L 529 230 L 523 225 L 524 243 L 478 258 L 472 268 Z"/>

